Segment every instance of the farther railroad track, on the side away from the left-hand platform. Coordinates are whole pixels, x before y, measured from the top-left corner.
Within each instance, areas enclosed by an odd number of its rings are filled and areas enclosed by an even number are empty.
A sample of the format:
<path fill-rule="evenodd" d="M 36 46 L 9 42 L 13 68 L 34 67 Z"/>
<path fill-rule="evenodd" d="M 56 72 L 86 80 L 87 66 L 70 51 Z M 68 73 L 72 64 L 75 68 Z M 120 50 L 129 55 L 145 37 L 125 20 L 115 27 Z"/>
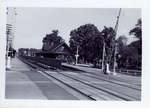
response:
<path fill-rule="evenodd" d="M 140 91 L 137 89 L 118 85 L 118 84 L 111 83 L 111 82 L 108 82 L 105 80 L 97 80 L 95 78 L 91 78 L 89 76 L 87 77 L 87 76 L 84 76 L 81 74 L 75 75 L 75 74 L 68 74 L 68 73 L 63 73 L 63 72 L 61 74 L 63 74 L 64 76 L 70 77 L 72 79 L 78 80 L 80 82 L 83 82 L 85 84 L 88 84 L 88 85 L 90 85 L 96 89 L 103 90 L 109 94 L 116 95 L 116 96 L 121 97 L 121 98 L 125 97 L 127 100 L 128 99 L 130 100 L 131 98 L 133 100 L 134 99 L 138 100 L 140 97 L 140 96 L 137 96 L 137 95 L 139 95 L 139 91 Z M 90 83 L 90 81 L 92 81 L 92 83 Z M 103 83 L 101 84 L 99 82 L 103 82 Z M 134 93 L 134 95 L 133 95 L 133 93 Z"/>

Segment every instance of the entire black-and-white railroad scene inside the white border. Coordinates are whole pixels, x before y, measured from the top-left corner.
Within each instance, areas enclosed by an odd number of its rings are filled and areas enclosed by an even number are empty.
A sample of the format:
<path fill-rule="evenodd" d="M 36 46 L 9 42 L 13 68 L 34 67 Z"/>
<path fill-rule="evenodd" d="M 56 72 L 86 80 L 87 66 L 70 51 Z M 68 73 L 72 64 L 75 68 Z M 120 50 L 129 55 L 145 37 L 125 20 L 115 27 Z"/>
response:
<path fill-rule="evenodd" d="M 7 7 L 5 99 L 141 101 L 141 8 Z"/>

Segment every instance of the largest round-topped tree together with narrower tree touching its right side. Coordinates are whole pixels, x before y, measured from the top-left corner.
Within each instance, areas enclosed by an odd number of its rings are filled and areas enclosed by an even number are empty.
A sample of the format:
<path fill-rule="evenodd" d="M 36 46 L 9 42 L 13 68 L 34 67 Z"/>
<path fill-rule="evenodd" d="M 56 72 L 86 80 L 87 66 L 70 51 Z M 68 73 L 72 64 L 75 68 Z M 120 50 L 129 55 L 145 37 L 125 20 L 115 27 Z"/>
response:
<path fill-rule="evenodd" d="M 100 32 L 93 24 L 85 24 L 70 33 L 70 47 L 76 54 L 79 46 L 80 59 L 94 63 L 102 60 L 105 43 L 105 62 L 111 64 L 114 53 L 115 31 L 112 27 L 104 27 Z"/>

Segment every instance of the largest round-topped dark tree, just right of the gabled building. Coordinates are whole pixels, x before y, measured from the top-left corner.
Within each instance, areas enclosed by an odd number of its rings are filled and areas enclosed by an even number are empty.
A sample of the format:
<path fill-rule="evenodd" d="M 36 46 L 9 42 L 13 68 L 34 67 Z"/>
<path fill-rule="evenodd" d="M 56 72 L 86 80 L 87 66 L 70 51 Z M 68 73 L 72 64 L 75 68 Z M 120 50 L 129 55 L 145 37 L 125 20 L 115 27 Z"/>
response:
<path fill-rule="evenodd" d="M 101 57 L 102 37 L 100 31 L 93 24 L 85 24 L 70 32 L 70 47 L 76 54 L 79 47 L 79 58 L 84 62 L 93 63 Z"/>

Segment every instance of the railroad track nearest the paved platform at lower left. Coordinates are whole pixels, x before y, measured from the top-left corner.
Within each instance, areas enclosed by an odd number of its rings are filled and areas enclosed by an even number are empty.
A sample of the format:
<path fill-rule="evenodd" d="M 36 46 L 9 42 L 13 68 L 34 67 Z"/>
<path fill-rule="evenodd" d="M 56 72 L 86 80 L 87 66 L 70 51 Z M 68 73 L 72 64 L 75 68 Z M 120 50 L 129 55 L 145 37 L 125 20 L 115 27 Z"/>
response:
<path fill-rule="evenodd" d="M 49 73 L 46 71 L 43 71 L 43 73 L 47 74 L 48 76 L 62 82 L 65 85 L 70 86 L 74 90 L 80 92 L 81 94 L 86 95 L 92 100 L 132 100 L 124 98 L 123 96 L 115 95 L 111 92 L 106 92 L 104 90 L 97 89 L 96 87 L 93 87 L 91 84 L 85 83 L 84 81 L 80 81 L 76 78 L 68 77 L 66 75 L 63 75 L 59 72 L 56 73 Z"/>

